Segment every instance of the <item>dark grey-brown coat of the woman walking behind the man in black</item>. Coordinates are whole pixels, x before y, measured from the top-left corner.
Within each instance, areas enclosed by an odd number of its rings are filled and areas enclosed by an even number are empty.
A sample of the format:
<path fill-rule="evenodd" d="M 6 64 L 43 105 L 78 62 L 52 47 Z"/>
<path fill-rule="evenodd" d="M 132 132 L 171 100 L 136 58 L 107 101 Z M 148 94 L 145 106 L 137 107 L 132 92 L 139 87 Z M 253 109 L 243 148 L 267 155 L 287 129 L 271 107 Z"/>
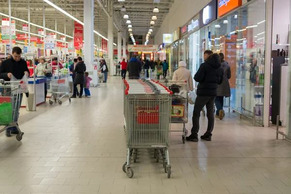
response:
<path fill-rule="evenodd" d="M 229 79 L 231 77 L 230 65 L 224 61 L 221 63 L 224 70 L 224 77 L 221 85 L 218 85 L 217 96 L 218 97 L 230 97 Z"/>

